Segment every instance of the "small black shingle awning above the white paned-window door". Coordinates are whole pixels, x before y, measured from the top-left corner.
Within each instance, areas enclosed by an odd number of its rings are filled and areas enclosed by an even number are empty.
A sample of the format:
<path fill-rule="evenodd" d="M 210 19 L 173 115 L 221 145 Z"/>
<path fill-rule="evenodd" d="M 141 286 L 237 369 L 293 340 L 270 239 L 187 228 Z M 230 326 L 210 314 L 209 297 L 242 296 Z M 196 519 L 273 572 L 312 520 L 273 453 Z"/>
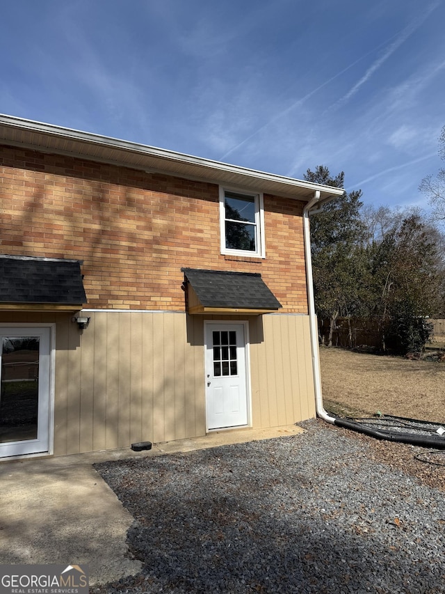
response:
<path fill-rule="evenodd" d="M 261 274 L 181 268 L 188 313 L 270 313 L 281 308 Z"/>

